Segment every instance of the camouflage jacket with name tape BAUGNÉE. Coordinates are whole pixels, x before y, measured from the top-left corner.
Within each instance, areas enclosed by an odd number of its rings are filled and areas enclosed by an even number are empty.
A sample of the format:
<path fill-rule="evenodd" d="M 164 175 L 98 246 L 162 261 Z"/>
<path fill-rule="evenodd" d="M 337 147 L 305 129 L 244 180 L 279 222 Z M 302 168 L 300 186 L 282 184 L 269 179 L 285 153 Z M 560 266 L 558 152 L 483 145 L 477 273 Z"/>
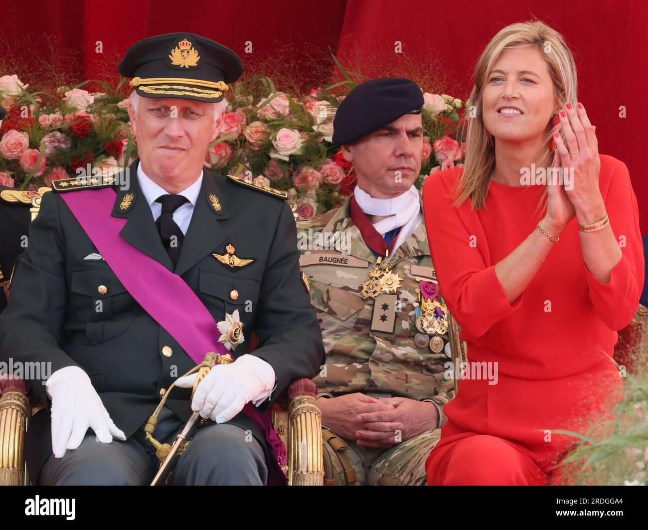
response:
<path fill-rule="evenodd" d="M 419 333 L 413 305 L 419 301 L 415 277 L 436 279 L 425 225 L 421 223 L 390 258 L 392 272 L 401 279 L 393 333 L 372 331 L 374 299 L 364 299 L 360 292 L 376 258 L 349 217 L 350 201 L 297 223 L 301 270 L 327 354 L 327 364 L 314 382 L 333 396 L 375 391 L 432 401 L 441 426 L 446 421 L 443 406 L 454 397 L 454 380 L 445 378 L 448 334 L 442 336 L 446 347 L 439 353 L 414 343 Z M 337 249 L 331 248 L 335 242 Z M 329 262 L 321 262 L 323 255 Z"/>

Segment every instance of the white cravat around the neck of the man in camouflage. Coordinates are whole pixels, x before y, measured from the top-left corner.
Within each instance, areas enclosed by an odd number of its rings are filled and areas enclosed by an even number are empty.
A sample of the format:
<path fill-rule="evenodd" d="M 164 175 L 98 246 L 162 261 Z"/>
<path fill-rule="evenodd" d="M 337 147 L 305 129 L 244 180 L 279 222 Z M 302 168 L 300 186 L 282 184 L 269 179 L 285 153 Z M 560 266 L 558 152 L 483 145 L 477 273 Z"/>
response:
<path fill-rule="evenodd" d="M 381 236 L 395 228 L 402 227 L 391 250 L 391 255 L 396 253 L 399 246 L 423 222 L 419 203 L 419 190 L 414 185 L 406 192 L 391 199 L 375 199 L 364 190 L 361 190 L 360 186 L 355 187 L 353 195 L 358 206 L 365 214 L 391 216 L 373 225 Z"/>

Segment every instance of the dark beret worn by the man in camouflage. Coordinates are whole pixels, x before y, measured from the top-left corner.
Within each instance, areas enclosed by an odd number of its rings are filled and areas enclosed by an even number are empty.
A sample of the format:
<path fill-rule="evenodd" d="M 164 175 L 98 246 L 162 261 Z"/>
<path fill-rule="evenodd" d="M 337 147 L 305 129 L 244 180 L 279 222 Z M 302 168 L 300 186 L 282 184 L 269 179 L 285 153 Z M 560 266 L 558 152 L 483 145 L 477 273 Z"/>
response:
<path fill-rule="evenodd" d="M 350 144 L 404 114 L 419 114 L 423 94 L 411 79 L 382 77 L 356 86 L 333 119 L 333 143 Z"/>

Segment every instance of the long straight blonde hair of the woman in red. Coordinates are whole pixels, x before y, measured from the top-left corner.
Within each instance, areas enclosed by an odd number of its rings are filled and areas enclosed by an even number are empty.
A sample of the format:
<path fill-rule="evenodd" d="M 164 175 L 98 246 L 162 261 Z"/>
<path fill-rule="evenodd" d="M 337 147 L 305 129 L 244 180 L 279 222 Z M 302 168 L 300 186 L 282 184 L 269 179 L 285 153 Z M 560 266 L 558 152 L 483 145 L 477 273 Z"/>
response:
<path fill-rule="evenodd" d="M 503 51 L 521 46 L 530 46 L 542 53 L 547 62 L 553 91 L 559 108 L 567 102 L 577 103 L 576 65 L 572 52 L 562 35 L 538 20 L 511 24 L 496 34 L 481 52 L 475 65 L 474 87 L 466 104 L 468 109 L 463 116 L 461 141 L 466 142 L 466 157 L 461 178 L 452 191 L 454 206 L 458 207 L 470 198 L 472 209 L 485 206 L 491 173 L 495 167 L 495 148 L 487 143 L 486 128 L 483 122 L 482 95 L 487 77 Z M 470 119 L 470 109 L 476 109 L 476 115 Z M 559 126 L 548 124 L 544 143 L 540 148 L 540 160 L 551 156 L 550 140 Z M 545 188 L 540 204 L 546 198 Z M 539 205 L 538 204 L 538 207 Z"/>

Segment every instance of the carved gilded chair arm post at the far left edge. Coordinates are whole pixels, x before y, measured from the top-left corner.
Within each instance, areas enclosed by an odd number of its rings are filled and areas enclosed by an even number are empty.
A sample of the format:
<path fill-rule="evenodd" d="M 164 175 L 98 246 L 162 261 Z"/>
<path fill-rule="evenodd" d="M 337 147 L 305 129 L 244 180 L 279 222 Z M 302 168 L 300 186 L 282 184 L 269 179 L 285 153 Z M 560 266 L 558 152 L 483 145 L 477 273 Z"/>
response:
<path fill-rule="evenodd" d="M 23 445 L 29 398 L 24 381 L 0 379 L 0 486 L 20 486 L 27 480 Z"/>

